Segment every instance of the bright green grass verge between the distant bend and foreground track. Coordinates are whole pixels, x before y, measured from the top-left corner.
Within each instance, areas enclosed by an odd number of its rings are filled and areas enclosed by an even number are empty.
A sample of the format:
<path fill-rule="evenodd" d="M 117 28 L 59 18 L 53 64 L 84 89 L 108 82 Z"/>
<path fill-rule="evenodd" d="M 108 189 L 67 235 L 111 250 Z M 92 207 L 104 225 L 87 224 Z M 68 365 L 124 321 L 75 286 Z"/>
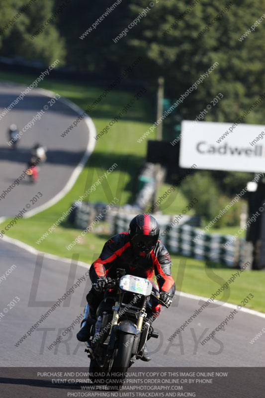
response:
<path fill-rule="evenodd" d="M 0 80 L 23 83 L 25 85 L 32 83 L 36 77 L 0 72 Z M 54 91 L 72 100 L 83 109 L 103 91 L 100 88 L 62 81 L 57 82 L 51 79 L 44 80 L 40 87 Z M 105 100 L 96 106 L 90 115 L 98 132 L 109 122 L 113 115 L 119 113 L 123 106 L 133 98 L 134 94 L 118 90 L 112 91 Z M 83 241 L 70 251 L 66 249 L 66 246 L 80 234 L 80 230 L 72 228 L 67 221 L 62 222 L 40 244 L 37 244 L 36 241 L 48 231 L 64 211 L 69 209 L 71 203 L 84 194 L 98 177 L 114 163 L 118 164 L 117 169 L 108 176 L 107 182 L 102 183 L 95 192 L 90 194 L 88 200 L 110 202 L 116 196 L 120 204 L 132 202 L 131 192 L 133 187 L 137 185 L 137 181 L 135 181 L 136 171 L 141 167 L 144 160 L 147 145 L 147 140 L 139 144 L 137 139 L 150 127 L 152 120 L 147 119 L 145 115 L 152 114 L 152 112 L 152 109 L 148 107 L 144 99 L 137 101 L 122 120 L 116 123 L 108 134 L 103 135 L 96 142 L 95 150 L 72 190 L 49 209 L 31 218 L 20 219 L 15 227 L 8 231 L 8 236 L 21 240 L 40 251 L 67 258 L 71 258 L 74 253 L 78 253 L 81 261 L 88 264 L 91 263 L 99 255 L 104 242 L 108 238 L 104 223 L 100 223 L 94 228 L 93 232 L 97 233 L 91 232 L 87 234 Z M 151 133 L 149 139 L 154 138 L 154 134 Z M 67 139 L 67 137 L 64 139 Z M 160 188 L 160 195 L 169 187 L 169 185 L 164 184 Z M 181 212 L 186 204 L 187 200 L 179 192 L 176 199 L 167 208 L 167 213 Z M 192 214 L 192 211 L 190 210 L 190 214 Z M 1 225 L 5 225 L 7 222 L 5 221 Z M 233 232 L 232 228 L 235 228 Z M 229 231 L 229 233 L 235 233 L 237 230 L 238 227 L 228 227 L 218 229 L 216 232 L 227 233 Z M 210 297 L 236 272 L 218 264 L 211 263 L 206 265 L 205 261 L 185 258 L 175 254 L 172 254 L 172 260 L 172 274 L 177 282 L 177 289 L 199 296 Z M 184 267 L 183 262 L 185 262 Z M 265 298 L 264 285 L 264 272 L 245 271 L 240 278 L 230 285 L 229 297 L 219 296 L 219 299 L 240 304 L 241 300 L 252 293 L 254 298 L 246 306 L 265 312 L 263 304 Z"/>

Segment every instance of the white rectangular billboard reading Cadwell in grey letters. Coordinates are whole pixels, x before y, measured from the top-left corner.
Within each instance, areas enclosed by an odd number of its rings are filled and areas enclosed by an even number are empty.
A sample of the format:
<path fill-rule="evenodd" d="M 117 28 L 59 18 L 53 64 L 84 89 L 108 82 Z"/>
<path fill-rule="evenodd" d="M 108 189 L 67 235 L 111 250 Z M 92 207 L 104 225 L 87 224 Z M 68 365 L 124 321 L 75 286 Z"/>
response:
<path fill-rule="evenodd" d="M 265 172 L 265 125 L 239 124 L 232 131 L 231 125 L 183 120 L 179 166 L 195 163 L 197 169 Z M 225 135 L 226 131 L 231 132 Z"/>

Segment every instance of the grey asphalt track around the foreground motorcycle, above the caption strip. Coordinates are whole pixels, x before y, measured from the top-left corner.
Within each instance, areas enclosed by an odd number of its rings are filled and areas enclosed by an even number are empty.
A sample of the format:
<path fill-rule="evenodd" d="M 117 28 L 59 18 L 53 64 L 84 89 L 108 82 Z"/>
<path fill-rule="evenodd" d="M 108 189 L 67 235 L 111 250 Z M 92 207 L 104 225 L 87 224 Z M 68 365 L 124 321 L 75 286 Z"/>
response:
<path fill-rule="evenodd" d="M 88 278 L 30 336 L 18 347 L 15 346 L 41 315 L 64 295 L 67 287 L 69 289 L 76 280 L 85 275 L 85 265 L 77 266 L 75 261 L 71 265 L 49 256 L 43 258 L 3 241 L 0 242 L 0 251 L 2 273 L 13 264 L 16 265 L 12 273 L 0 284 L 1 305 L 6 308 L 16 296 L 20 298 L 20 301 L 0 319 L 0 366 L 88 366 L 84 344 L 76 339 L 78 324 L 55 348 L 47 348 L 71 325 L 77 315 L 83 313 L 85 296 L 90 289 Z M 40 270 L 39 279 L 36 270 Z M 49 302 L 38 303 L 42 300 Z M 264 327 L 264 318 L 239 311 L 225 329 L 217 333 L 214 340 L 202 346 L 198 342 L 202 339 L 202 334 L 204 333 L 205 338 L 232 311 L 232 308 L 227 306 L 212 304 L 212 307 L 206 307 L 181 335 L 169 342 L 167 339 L 176 328 L 201 305 L 197 300 L 181 295 L 179 299 L 175 298 L 175 302 L 170 309 L 163 310 L 154 322 L 160 337 L 149 340 L 152 362 L 147 364 L 137 361 L 137 366 L 265 366 L 265 358 L 260 355 L 264 349 L 264 338 L 261 337 L 254 344 L 249 343 Z M 3 308 L 0 308 L 2 313 Z"/>

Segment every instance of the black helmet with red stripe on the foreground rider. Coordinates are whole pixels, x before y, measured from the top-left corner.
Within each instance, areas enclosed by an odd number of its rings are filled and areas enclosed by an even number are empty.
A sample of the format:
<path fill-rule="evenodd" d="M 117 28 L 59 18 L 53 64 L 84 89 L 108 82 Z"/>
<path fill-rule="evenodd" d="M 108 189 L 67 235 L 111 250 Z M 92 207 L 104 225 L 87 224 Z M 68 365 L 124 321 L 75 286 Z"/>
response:
<path fill-rule="evenodd" d="M 131 220 L 128 232 L 134 251 L 145 256 L 158 241 L 159 225 L 152 215 L 138 214 Z"/>

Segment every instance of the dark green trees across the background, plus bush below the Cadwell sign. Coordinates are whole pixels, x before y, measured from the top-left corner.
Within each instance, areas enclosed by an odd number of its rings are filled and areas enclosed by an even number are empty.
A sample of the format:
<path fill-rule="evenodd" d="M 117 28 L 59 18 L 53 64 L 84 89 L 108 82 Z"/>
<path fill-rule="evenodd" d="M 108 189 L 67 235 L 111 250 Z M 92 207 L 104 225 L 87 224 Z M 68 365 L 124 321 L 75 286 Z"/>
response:
<path fill-rule="evenodd" d="M 30 36 L 64 3 L 64 0 L 36 0 L 0 35 L 1 55 L 20 55 L 47 64 L 59 59 L 60 66 L 65 62 L 72 70 L 97 73 L 113 80 L 141 56 L 141 64 L 132 70 L 129 77 L 145 80 L 150 95 L 156 92 L 158 77 L 164 76 L 165 95 L 172 102 L 218 62 L 209 77 L 177 107 L 177 117 L 188 120 L 194 119 L 218 93 L 222 93 L 224 97 L 211 108 L 204 120 L 234 122 L 265 92 L 265 21 L 244 40 L 239 40 L 265 13 L 265 0 L 200 0 L 176 23 L 192 1 L 154 0 L 154 6 L 150 7 L 146 0 L 123 0 L 81 39 L 114 2 L 70 0 L 43 33 L 31 40 Z M 26 3 L 26 0 L 0 0 L 0 29 Z M 147 10 L 146 16 L 114 43 L 113 39 L 143 9 Z M 219 19 L 206 30 L 205 26 L 220 12 Z M 153 109 L 155 114 L 155 101 Z M 244 122 L 263 124 L 263 109 L 264 103 L 261 103 Z M 165 123 L 167 137 L 171 140 L 175 138 L 172 134 L 177 135 L 173 121 L 169 119 Z M 187 197 L 194 196 L 194 192 L 196 196 L 200 193 L 197 212 L 210 218 L 216 215 L 223 202 L 233 198 L 252 178 L 252 173 L 199 171 L 188 183 L 183 183 L 182 189 Z M 234 212 L 227 223 L 237 222 L 237 206 Z"/>

